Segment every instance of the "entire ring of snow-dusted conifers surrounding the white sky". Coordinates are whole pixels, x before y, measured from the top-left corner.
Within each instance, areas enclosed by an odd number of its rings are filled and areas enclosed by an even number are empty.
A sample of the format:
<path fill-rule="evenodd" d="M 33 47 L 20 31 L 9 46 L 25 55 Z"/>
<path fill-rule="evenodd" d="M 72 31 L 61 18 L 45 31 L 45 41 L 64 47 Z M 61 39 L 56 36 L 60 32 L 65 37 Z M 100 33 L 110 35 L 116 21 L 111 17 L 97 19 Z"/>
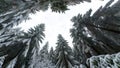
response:
<path fill-rule="evenodd" d="M 114 5 L 110 0 L 93 15 L 90 9 L 85 15 L 78 14 L 71 19 L 73 48 L 58 35 L 55 49 L 48 51 L 47 42 L 40 50 L 45 37 L 44 24 L 27 32 L 13 28 L 29 19 L 30 13 L 45 11 L 49 5 L 54 12 L 65 12 L 68 5 L 83 1 L 89 0 L 0 0 L 0 67 L 119 68 L 120 0 Z"/>

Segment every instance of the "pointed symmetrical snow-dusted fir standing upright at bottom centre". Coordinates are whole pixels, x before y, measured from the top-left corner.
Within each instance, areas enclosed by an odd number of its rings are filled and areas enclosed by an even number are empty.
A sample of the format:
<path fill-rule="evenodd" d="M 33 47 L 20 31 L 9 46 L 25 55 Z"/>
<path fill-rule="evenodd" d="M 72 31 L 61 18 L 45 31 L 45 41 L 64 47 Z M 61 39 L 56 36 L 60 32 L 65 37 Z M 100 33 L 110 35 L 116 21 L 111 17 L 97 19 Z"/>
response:
<path fill-rule="evenodd" d="M 56 47 L 56 67 L 72 68 L 77 62 L 72 56 L 72 49 L 68 46 L 67 41 L 59 35 Z"/>

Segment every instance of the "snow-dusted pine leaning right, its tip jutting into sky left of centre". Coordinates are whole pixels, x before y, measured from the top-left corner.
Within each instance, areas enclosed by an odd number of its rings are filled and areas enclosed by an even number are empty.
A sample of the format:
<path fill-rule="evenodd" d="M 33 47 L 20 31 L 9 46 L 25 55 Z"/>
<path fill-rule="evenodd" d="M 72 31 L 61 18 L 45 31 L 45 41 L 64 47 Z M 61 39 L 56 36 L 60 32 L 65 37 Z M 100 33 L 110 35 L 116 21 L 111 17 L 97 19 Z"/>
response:
<path fill-rule="evenodd" d="M 34 54 L 37 54 L 38 51 L 39 51 L 39 42 L 42 43 L 42 40 L 44 39 L 45 35 L 43 33 L 44 31 L 44 24 L 40 24 L 36 27 L 31 28 L 29 31 L 28 31 L 28 34 L 25 35 L 25 37 L 30 37 L 29 39 L 29 50 L 27 52 L 27 61 L 25 63 L 25 68 L 28 68 L 29 65 L 30 65 L 30 60 L 31 59 L 34 59 Z"/>

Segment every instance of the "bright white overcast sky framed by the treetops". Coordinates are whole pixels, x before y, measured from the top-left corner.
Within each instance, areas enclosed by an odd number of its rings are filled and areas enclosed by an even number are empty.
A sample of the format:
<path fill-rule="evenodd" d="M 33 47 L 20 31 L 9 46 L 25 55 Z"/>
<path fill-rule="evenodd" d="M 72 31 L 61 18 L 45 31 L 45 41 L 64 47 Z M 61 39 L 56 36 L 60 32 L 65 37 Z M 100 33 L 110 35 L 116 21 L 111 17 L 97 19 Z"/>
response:
<path fill-rule="evenodd" d="M 72 28 L 72 22 L 70 19 L 73 16 L 86 13 L 90 8 L 93 11 L 97 10 L 101 5 L 105 5 L 109 0 L 92 0 L 91 3 L 81 3 L 75 6 L 69 6 L 68 11 L 65 13 L 55 13 L 50 9 L 45 12 L 37 12 L 36 14 L 30 15 L 31 19 L 23 22 L 19 25 L 22 29 L 27 30 L 40 23 L 45 23 L 45 42 L 49 41 L 49 46 L 56 46 L 58 34 L 68 41 L 68 44 L 72 46 L 72 39 L 70 37 L 69 29 Z"/>

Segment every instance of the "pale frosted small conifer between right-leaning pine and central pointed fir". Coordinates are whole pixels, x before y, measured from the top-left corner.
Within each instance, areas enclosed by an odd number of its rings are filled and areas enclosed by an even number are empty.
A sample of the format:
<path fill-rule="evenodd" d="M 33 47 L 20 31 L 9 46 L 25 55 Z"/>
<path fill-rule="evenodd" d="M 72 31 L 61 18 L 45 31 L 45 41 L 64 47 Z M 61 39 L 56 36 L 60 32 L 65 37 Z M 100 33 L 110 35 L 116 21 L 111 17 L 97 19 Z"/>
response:
<path fill-rule="evenodd" d="M 39 54 L 36 56 L 35 60 L 33 60 L 33 67 L 31 68 L 55 68 L 55 65 L 48 58 L 48 42 L 43 46 L 40 50 Z"/>

